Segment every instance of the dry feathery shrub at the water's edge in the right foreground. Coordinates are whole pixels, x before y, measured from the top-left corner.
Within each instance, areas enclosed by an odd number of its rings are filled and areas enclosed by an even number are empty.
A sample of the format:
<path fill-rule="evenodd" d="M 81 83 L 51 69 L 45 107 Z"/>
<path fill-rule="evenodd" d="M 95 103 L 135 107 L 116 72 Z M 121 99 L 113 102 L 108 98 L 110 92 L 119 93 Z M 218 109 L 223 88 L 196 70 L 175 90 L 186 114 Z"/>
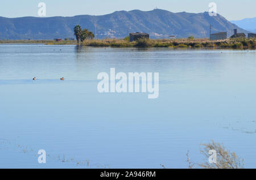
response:
<path fill-rule="evenodd" d="M 192 163 L 188 153 L 187 161 L 190 169 L 205 168 L 205 169 L 241 169 L 244 165 L 244 160 L 236 155 L 235 152 L 230 152 L 223 144 L 216 143 L 212 140 L 211 143 L 201 144 L 203 149 L 200 150 L 201 155 L 205 157 L 205 162 Z M 209 151 L 214 149 L 216 151 L 216 163 L 209 162 Z"/>

